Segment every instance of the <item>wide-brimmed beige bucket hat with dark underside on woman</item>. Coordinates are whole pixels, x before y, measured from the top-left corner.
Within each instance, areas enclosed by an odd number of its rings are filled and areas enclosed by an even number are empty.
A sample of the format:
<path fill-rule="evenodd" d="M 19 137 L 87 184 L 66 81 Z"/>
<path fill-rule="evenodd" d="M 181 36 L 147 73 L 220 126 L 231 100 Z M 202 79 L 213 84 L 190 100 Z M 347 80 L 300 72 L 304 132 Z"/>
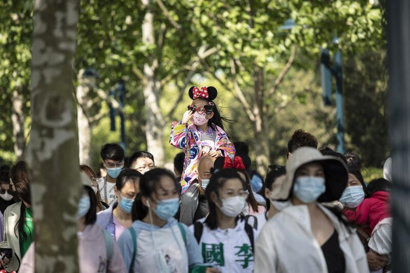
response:
<path fill-rule="evenodd" d="M 286 179 L 276 188 L 271 198 L 278 201 L 289 200 L 293 189 L 295 173 L 304 164 L 319 163 L 323 166 L 326 191 L 318 198 L 319 202 L 339 200 L 347 185 L 348 169 L 338 157 L 324 156 L 317 149 L 301 147 L 292 153 L 286 165 Z"/>

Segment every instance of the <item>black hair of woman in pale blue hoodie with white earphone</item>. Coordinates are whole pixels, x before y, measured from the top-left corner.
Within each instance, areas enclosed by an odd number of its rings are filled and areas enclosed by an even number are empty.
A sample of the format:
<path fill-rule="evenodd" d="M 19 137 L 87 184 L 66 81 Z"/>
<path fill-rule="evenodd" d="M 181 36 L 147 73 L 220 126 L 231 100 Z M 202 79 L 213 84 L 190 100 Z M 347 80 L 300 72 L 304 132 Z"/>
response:
<path fill-rule="evenodd" d="M 161 178 L 168 176 L 175 183 L 175 188 L 178 191 L 178 185 L 175 180 L 175 176 L 168 170 L 162 168 L 156 168 L 146 172 L 139 181 L 139 194 L 135 197 L 134 204 L 132 205 L 132 221 L 142 220 L 148 215 L 148 207 L 142 204 L 142 196 L 151 197 L 157 190 L 157 186 L 161 182 Z"/>

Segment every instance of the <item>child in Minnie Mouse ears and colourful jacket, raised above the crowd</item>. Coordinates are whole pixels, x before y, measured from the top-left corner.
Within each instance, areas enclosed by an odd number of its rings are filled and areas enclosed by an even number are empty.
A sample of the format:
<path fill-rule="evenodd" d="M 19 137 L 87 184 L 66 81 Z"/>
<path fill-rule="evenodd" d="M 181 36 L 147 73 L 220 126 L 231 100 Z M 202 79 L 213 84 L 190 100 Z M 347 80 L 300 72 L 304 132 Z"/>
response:
<path fill-rule="evenodd" d="M 196 177 L 196 166 L 202 155 L 218 158 L 233 158 L 235 147 L 223 130 L 222 121 L 213 101 L 218 92 L 215 87 L 191 87 L 188 92 L 192 103 L 182 120 L 174 121 L 171 127 L 170 144 L 185 152 L 181 177 L 182 194 L 188 190 Z M 192 124 L 189 124 L 189 122 Z"/>

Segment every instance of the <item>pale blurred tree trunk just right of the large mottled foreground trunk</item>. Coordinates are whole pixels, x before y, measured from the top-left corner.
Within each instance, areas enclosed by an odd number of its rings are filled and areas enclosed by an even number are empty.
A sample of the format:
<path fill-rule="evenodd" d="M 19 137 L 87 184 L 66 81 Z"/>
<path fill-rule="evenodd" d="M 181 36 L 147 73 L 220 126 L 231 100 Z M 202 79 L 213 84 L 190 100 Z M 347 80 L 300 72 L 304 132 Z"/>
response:
<path fill-rule="evenodd" d="M 82 79 L 83 70 L 78 73 L 77 87 L 77 123 L 80 164 L 91 164 L 92 128 L 88 111 L 90 88 Z"/>

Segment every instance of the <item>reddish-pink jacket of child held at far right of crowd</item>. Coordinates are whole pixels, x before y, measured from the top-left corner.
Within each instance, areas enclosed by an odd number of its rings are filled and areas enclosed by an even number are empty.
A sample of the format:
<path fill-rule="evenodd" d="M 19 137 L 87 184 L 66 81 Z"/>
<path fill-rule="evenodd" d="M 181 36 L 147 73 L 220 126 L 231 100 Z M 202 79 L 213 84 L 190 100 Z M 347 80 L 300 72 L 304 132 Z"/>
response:
<path fill-rule="evenodd" d="M 390 193 L 376 192 L 366 198 L 354 211 L 344 210 L 347 220 L 357 225 L 370 225 L 373 229 L 381 220 L 392 217 L 390 214 Z"/>

